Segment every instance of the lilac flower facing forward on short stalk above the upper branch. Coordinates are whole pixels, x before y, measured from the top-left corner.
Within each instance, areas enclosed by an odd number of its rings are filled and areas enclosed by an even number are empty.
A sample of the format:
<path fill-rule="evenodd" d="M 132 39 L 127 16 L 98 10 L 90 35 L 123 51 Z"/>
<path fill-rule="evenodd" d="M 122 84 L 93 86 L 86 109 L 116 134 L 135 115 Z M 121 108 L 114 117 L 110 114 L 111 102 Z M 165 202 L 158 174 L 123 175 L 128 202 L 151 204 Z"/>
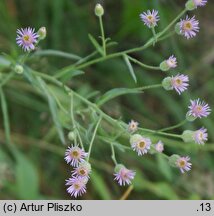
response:
<path fill-rule="evenodd" d="M 144 22 L 144 25 L 147 25 L 149 28 L 155 27 L 160 20 L 157 10 L 143 12 L 140 14 L 140 18 Z"/>

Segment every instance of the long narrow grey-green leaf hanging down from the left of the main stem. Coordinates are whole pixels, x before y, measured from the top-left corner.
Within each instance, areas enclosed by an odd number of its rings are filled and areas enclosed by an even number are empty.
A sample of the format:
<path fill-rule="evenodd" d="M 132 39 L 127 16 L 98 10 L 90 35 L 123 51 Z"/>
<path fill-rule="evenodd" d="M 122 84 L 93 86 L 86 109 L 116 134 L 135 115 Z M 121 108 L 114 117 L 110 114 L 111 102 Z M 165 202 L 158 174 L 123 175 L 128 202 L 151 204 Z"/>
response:
<path fill-rule="evenodd" d="M 50 111 L 52 114 L 54 124 L 55 124 L 57 132 L 59 134 L 59 138 L 60 138 L 61 142 L 63 144 L 65 144 L 65 137 L 64 137 L 62 126 L 61 126 L 60 121 L 59 121 L 58 110 L 57 110 L 57 105 L 56 105 L 55 99 L 50 94 L 46 83 L 41 78 L 37 78 L 37 80 L 38 80 L 38 83 L 40 84 L 41 89 L 43 90 L 44 94 L 46 95 L 46 97 L 48 99 L 48 104 L 50 107 Z"/>

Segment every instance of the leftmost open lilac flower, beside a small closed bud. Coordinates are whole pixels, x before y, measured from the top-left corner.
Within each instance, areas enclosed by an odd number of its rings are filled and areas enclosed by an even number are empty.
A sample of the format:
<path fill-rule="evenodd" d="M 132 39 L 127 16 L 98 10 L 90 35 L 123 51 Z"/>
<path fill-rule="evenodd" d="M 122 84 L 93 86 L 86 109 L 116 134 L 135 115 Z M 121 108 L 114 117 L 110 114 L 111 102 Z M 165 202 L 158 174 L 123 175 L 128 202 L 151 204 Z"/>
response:
<path fill-rule="evenodd" d="M 21 28 L 17 30 L 16 43 L 22 47 L 24 51 L 30 51 L 35 49 L 35 43 L 39 35 L 33 28 Z"/>

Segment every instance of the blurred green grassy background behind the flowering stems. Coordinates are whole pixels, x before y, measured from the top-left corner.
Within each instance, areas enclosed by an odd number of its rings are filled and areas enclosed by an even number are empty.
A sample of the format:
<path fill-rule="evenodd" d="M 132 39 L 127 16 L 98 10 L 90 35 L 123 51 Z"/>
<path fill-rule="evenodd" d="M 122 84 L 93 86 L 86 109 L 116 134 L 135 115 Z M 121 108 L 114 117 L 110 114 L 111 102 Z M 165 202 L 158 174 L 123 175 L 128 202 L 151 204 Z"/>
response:
<path fill-rule="evenodd" d="M 47 38 L 39 49 L 56 49 L 79 56 L 93 51 L 88 33 L 98 39 L 98 20 L 94 15 L 93 0 L 0 0 L 0 51 L 12 58 L 22 54 L 15 43 L 16 29 L 41 26 L 47 28 Z M 147 9 L 159 10 L 163 29 L 184 7 L 185 0 L 106 0 L 99 1 L 105 8 L 104 26 L 108 37 L 118 42 L 111 48 L 125 50 L 138 47 L 150 38 L 151 32 L 139 19 Z M 164 90 L 146 91 L 141 95 L 127 95 L 107 103 L 103 110 L 125 122 L 136 119 L 142 127 L 159 129 L 182 121 L 189 100 L 202 98 L 214 107 L 214 2 L 209 1 L 196 14 L 200 20 L 200 33 L 192 40 L 174 36 L 155 47 L 134 53 L 133 57 L 150 65 L 159 63 L 174 54 L 179 67 L 169 72 L 190 76 L 190 88 L 181 96 Z M 70 59 L 37 57 L 28 65 L 37 71 L 55 74 L 60 68 L 72 64 Z M 1 72 L 5 71 L 1 69 Z M 89 92 L 106 91 L 117 87 L 136 87 L 160 83 L 163 72 L 147 71 L 135 66 L 137 85 L 133 82 L 122 59 L 105 61 L 84 69 L 85 74 L 68 81 L 69 85 L 85 97 Z M 4 76 L 3 75 L 3 76 Z M 65 94 L 57 88 L 53 91 L 65 104 Z M 65 164 L 65 146 L 60 143 L 53 125 L 48 103 L 26 80 L 16 76 L 4 86 L 11 124 L 11 137 L 20 152 L 15 159 L 7 148 L 2 115 L 0 117 L 0 199 L 70 199 L 64 186 L 71 168 Z M 92 98 L 93 100 L 93 98 Z M 83 108 L 75 104 L 75 111 Z M 63 116 L 63 115 L 62 115 Z M 86 116 L 87 117 L 87 116 Z M 66 118 L 63 116 L 62 118 Z M 64 121 L 64 120 L 62 120 Z M 66 119 L 65 119 L 66 121 Z M 83 121 L 90 128 L 90 120 Z M 164 138 L 166 154 L 189 155 L 192 171 L 181 175 L 170 168 L 160 155 L 137 157 L 133 152 L 116 149 L 118 160 L 135 169 L 137 176 L 128 199 L 214 199 L 214 115 L 186 124 L 174 130 L 208 129 L 209 142 L 205 146 Z M 86 126 L 87 125 L 87 126 Z M 109 130 L 114 131 L 114 128 Z M 65 135 L 69 130 L 65 130 Z M 83 135 L 84 136 L 84 135 Z M 87 141 L 87 135 L 85 135 Z M 68 140 L 66 140 L 69 143 Z M 128 145 L 128 140 L 122 140 Z M 113 163 L 109 145 L 96 140 L 92 151 L 93 172 L 88 192 L 83 199 L 120 199 L 127 188 L 113 181 Z"/>

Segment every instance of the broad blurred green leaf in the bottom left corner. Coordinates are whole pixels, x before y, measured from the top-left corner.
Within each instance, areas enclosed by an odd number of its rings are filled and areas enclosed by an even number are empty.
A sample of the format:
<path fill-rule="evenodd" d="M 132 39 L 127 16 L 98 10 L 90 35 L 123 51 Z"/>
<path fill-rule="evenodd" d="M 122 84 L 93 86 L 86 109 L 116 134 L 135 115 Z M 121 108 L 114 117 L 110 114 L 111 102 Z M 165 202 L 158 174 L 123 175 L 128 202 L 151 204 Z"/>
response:
<path fill-rule="evenodd" d="M 34 165 L 23 154 L 16 152 L 15 193 L 19 199 L 37 199 L 39 178 Z"/>

